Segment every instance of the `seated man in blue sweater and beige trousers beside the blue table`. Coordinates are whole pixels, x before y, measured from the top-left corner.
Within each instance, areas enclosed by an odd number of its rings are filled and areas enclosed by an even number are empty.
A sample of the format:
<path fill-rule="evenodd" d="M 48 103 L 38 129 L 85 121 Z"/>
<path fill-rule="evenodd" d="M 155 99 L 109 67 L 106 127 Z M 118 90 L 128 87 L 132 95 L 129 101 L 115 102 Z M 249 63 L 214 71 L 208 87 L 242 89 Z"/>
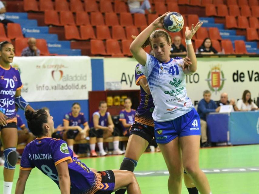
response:
<path fill-rule="evenodd" d="M 201 146 L 210 147 L 210 143 L 207 138 L 207 122 L 206 116 L 210 112 L 219 112 L 220 106 L 217 107 L 216 103 L 210 99 L 211 93 L 209 90 L 203 92 L 203 99 L 200 100 L 197 108 L 197 112 L 200 115 L 200 128 L 201 128 Z"/>

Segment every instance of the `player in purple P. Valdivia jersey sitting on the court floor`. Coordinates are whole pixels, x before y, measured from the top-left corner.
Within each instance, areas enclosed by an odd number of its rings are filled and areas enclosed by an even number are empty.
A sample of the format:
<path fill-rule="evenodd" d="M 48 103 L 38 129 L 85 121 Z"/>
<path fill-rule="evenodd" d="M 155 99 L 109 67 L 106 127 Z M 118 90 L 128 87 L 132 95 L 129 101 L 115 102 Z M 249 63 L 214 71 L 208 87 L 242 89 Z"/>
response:
<path fill-rule="evenodd" d="M 129 194 L 140 194 L 134 174 L 123 170 L 96 171 L 76 157 L 62 139 L 52 138 L 53 117 L 44 109 L 26 110 L 29 129 L 37 136 L 24 149 L 15 194 L 25 192 L 33 168 L 38 168 L 59 187 L 62 194 L 109 194 L 126 187 Z M 47 187 L 47 186 L 46 186 Z"/>

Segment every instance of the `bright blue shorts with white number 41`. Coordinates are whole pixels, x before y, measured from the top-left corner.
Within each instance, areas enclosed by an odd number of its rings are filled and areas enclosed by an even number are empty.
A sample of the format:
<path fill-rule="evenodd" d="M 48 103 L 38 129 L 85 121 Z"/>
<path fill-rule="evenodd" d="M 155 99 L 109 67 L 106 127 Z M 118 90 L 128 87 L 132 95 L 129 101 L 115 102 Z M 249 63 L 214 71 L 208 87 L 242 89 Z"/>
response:
<path fill-rule="evenodd" d="M 168 143 L 178 136 L 200 135 L 200 116 L 195 109 L 174 120 L 154 123 L 157 143 Z"/>

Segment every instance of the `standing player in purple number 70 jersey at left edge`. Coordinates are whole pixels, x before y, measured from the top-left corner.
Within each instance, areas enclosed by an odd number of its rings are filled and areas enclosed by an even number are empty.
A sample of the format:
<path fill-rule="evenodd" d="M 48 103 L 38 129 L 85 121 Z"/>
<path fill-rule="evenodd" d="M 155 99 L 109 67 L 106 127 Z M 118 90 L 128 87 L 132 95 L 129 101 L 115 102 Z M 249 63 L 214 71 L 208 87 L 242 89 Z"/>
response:
<path fill-rule="evenodd" d="M 17 162 L 18 135 L 15 103 L 20 109 L 33 110 L 21 96 L 23 85 L 18 70 L 10 65 L 14 55 L 14 47 L 10 42 L 0 43 L 0 130 L 5 156 L 3 194 L 11 194 Z"/>

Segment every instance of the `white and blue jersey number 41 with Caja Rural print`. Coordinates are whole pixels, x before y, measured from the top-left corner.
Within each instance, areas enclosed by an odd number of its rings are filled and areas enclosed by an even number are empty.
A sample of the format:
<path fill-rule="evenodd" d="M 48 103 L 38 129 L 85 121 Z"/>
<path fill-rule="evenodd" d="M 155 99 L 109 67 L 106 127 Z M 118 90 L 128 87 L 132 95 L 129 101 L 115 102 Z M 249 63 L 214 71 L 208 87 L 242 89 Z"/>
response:
<path fill-rule="evenodd" d="M 170 121 L 191 111 L 194 106 L 187 96 L 183 59 L 170 59 L 161 63 L 146 54 L 146 65 L 140 71 L 146 76 L 155 109 L 153 119 L 157 122 Z"/>

